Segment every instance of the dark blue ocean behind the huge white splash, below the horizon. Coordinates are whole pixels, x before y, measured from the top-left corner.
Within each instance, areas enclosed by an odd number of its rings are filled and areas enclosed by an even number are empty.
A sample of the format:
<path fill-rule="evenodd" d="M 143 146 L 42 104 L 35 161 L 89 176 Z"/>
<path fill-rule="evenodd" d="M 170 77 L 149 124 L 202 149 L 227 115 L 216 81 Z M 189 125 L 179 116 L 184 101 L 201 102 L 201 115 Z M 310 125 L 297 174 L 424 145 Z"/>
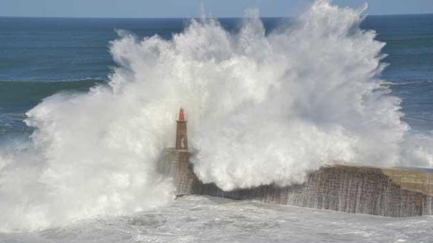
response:
<path fill-rule="evenodd" d="M 263 19 L 267 31 L 279 18 Z M 240 19 L 220 19 L 236 31 Z M 0 137 L 28 134 L 25 112 L 61 90 L 88 90 L 108 80 L 115 63 L 108 52 L 116 29 L 139 37 L 171 38 L 187 19 L 0 18 Z M 382 79 L 402 98 L 404 120 L 414 130 L 433 130 L 433 15 L 368 16 L 386 42 Z"/>

